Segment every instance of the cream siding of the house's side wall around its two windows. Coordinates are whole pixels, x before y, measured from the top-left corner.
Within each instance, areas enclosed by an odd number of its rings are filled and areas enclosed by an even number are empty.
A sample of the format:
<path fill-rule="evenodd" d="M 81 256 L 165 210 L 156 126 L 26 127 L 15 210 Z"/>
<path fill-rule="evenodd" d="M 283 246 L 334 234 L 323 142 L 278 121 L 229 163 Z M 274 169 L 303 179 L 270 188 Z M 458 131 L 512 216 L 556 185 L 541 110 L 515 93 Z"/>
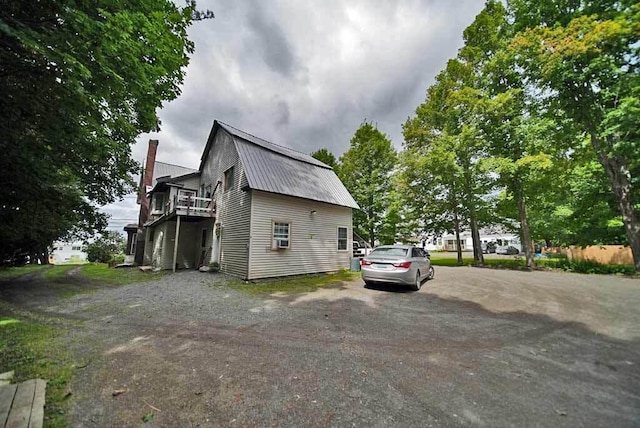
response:
<path fill-rule="evenodd" d="M 274 220 L 290 223 L 289 249 L 272 249 Z M 347 250 L 338 251 L 338 227 L 348 228 Z M 348 269 L 351 237 L 351 208 L 252 191 L 248 279 Z"/>

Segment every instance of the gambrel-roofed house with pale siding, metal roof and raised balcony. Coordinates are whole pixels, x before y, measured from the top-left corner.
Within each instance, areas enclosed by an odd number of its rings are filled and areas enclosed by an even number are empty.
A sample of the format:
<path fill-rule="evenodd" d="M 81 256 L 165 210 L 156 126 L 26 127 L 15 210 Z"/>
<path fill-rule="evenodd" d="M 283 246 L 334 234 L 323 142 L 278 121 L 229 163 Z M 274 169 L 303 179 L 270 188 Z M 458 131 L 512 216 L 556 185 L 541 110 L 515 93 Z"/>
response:
<path fill-rule="evenodd" d="M 333 169 L 215 121 L 197 171 L 159 177 L 149 191 L 144 263 L 217 263 L 243 279 L 347 269 L 352 209 Z"/>

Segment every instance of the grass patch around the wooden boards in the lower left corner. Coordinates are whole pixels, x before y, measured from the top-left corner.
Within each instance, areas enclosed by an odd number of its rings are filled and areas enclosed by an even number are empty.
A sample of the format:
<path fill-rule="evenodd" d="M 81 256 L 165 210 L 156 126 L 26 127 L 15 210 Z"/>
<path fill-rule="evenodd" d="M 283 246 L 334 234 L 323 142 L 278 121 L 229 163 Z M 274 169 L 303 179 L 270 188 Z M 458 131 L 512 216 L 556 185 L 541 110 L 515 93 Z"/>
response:
<path fill-rule="evenodd" d="M 33 378 L 48 381 L 44 419 L 48 427 L 67 426 L 66 400 L 73 361 L 64 347 L 55 344 L 63 332 L 60 327 L 28 318 L 0 317 L 0 372 L 14 370 L 12 383 Z"/>

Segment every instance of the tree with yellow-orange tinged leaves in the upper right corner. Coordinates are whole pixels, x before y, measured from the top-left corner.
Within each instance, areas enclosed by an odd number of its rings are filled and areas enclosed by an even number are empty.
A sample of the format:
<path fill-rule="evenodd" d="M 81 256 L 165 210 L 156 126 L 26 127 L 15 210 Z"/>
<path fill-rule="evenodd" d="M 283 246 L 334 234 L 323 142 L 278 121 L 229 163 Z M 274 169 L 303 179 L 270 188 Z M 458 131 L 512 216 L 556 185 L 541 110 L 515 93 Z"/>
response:
<path fill-rule="evenodd" d="M 531 85 L 588 136 L 640 270 L 640 4 L 513 0 L 510 53 Z"/>

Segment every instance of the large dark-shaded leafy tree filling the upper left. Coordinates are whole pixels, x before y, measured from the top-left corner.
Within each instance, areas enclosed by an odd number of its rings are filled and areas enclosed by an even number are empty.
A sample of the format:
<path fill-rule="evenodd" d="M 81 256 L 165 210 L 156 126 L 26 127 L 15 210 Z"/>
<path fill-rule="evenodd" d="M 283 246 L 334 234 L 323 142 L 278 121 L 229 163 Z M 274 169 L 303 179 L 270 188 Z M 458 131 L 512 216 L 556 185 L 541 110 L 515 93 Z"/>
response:
<path fill-rule="evenodd" d="M 95 204 L 132 188 L 130 147 L 180 93 L 193 52 L 187 28 L 209 17 L 169 0 L 0 8 L 3 252 L 43 254 L 72 226 L 105 226 Z"/>

